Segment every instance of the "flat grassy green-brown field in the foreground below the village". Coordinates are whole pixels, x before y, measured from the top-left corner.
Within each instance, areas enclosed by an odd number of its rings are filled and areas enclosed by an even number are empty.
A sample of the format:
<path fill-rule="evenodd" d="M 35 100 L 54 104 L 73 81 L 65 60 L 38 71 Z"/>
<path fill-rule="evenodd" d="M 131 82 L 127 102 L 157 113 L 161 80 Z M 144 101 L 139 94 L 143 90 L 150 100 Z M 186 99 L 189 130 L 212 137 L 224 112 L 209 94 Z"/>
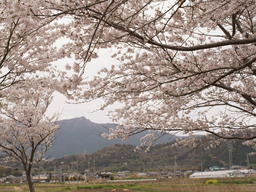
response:
<path fill-rule="evenodd" d="M 35 192 L 256 192 L 256 178 L 162 179 L 123 183 L 36 183 Z M 27 184 L 2 184 L 0 192 L 27 192 Z"/>

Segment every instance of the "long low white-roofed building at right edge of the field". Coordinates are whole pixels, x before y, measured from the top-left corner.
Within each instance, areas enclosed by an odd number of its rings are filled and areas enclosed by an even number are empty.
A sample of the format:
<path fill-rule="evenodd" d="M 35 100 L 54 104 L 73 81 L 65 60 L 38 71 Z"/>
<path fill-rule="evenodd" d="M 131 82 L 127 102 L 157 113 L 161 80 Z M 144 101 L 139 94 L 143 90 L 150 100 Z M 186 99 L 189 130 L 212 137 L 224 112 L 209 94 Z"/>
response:
<path fill-rule="evenodd" d="M 206 178 L 206 177 L 243 177 L 243 176 L 255 176 L 256 171 L 254 169 L 243 169 L 243 170 L 225 170 L 225 171 L 205 171 L 193 173 L 189 178 Z"/>

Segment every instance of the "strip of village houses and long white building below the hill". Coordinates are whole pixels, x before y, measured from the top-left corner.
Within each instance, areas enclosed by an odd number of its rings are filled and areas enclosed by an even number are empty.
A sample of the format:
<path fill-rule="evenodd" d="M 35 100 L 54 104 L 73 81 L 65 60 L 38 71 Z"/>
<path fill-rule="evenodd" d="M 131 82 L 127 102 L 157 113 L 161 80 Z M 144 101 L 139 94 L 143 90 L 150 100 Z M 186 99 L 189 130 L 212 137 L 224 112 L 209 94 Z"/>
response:
<path fill-rule="evenodd" d="M 124 180 L 129 177 L 144 177 L 144 178 L 170 178 L 170 179 L 179 179 L 179 178 L 218 178 L 218 177 L 250 177 L 255 176 L 256 171 L 254 169 L 245 169 L 244 167 L 234 165 L 232 169 L 225 167 L 212 166 L 209 170 L 202 171 L 175 171 L 175 172 L 142 172 L 142 173 L 131 173 L 130 171 L 120 171 L 118 173 L 111 172 L 90 172 L 84 170 L 81 172 L 72 171 L 69 173 L 59 173 L 59 174 L 40 174 L 40 175 L 31 175 L 31 179 L 34 183 L 44 183 L 44 182 L 101 182 L 103 179 L 108 182 Z M 27 178 L 25 171 L 22 172 L 22 175 L 19 177 L 14 177 L 13 175 L 8 175 L 6 177 L 0 178 L 1 183 L 26 183 Z"/>

